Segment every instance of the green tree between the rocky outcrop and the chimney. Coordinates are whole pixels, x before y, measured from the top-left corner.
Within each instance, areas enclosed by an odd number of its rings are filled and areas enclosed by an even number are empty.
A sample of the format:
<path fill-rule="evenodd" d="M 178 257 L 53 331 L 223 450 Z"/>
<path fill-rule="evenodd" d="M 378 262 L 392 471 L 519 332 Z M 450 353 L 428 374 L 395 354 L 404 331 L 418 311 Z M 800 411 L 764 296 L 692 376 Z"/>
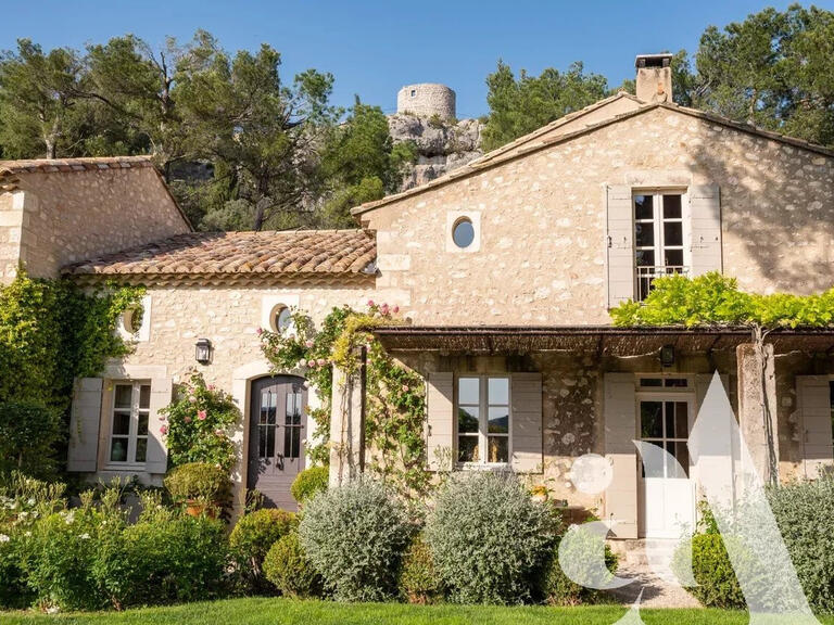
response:
<path fill-rule="evenodd" d="M 519 77 L 509 65 L 486 77 L 490 114 L 483 129 L 483 149 L 493 150 L 554 119 L 602 100 L 607 81 L 598 74 L 585 74 L 582 63 L 567 72 L 548 67 L 540 76 L 521 71 Z"/>

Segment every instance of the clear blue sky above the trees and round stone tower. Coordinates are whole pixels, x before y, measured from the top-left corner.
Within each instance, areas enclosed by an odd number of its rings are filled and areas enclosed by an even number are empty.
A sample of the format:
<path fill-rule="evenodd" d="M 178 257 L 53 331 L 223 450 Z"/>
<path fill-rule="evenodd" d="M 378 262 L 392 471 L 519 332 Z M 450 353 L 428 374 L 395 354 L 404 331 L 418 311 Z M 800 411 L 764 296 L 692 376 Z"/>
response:
<path fill-rule="evenodd" d="M 11 1 L 11 0 L 10 0 Z M 166 35 L 188 39 L 197 28 L 229 50 L 270 43 L 283 58 L 285 79 L 315 67 L 336 76 L 333 101 L 395 107 L 409 82 L 445 82 L 457 92 L 458 117 L 486 112 L 484 78 L 498 59 L 538 74 L 583 61 L 619 85 L 641 52 L 694 51 L 704 28 L 743 20 L 762 0 L 556 2 L 532 0 L 357 2 L 241 0 L 40 0 L 3 12 L 0 49 L 28 37 L 46 49 L 81 48 L 134 33 L 153 44 Z M 818 7 L 834 10 L 834 0 Z"/>

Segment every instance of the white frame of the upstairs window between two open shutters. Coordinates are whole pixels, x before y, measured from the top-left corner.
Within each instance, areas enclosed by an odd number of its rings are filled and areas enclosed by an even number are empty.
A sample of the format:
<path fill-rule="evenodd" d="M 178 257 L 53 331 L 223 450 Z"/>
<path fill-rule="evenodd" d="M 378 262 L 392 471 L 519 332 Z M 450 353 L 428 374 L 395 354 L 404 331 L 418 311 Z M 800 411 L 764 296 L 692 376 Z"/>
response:
<path fill-rule="evenodd" d="M 652 219 L 637 219 L 636 216 L 636 209 L 635 209 L 635 200 L 637 195 L 648 195 L 652 197 L 652 204 L 653 204 L 653 217 Z M 680 219 L 665 219 L 664 218 L 664 195 L 680 195 L 681 196 L 681 217 Z M 691 233 L 691 219 L 690 219 L 690 197 L 686 189 L 682 189 L 680 187 L 670 187 L 670 188 L 649 188 L 649 189 L 640 189 L 635 188 L 631 190 L 631 218 L 632 218 L 632 230 L 634 235 L 634 258 L 633 258 L 633 265 L 634 265 L 634 294 L 635 297 L 640 298 L 641 295 L 641 284 L 640 284 L 640 267 L 637 265 L 637 252 L 640 251 L 652 251 L 655 255 L 655 263 L 652 267 L 655 268 L 662 268 L 667 267 L 665 254 L 664 251 L 668 250 L 681 250 L 683 252 L 683 264 L 681 267 L 683 267 L 682 272 L 688 273 L 690 268 L 692 267 L 692 246 L 688 244 L 688 242 L 692 240 L 692 233 Z M 665 232 L 664 232 L 664 222 L 678 222 L 681 224 L 681 244 L 680 245 L 667 245 L 665 241 Z M 654 232 L 654 245 L 637 245 L 637 224 L 652 224 L 653 226 L 653 232 Z M 673 267 L 670 265 L 669 267 Z M 644 294 L 644 295 L 647 295 Z"/>

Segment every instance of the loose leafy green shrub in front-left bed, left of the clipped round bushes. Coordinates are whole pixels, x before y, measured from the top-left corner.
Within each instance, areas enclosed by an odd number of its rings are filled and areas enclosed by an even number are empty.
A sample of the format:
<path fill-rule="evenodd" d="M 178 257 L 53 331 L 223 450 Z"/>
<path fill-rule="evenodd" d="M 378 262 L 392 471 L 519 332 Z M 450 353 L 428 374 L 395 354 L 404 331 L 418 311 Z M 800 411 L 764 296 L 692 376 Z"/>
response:
<path fill-rule="evenodd" d="M 226 560 L 220 521 L 160 508 L 104 541 L 92 575 L 121 610 L 217 597 Z"/>

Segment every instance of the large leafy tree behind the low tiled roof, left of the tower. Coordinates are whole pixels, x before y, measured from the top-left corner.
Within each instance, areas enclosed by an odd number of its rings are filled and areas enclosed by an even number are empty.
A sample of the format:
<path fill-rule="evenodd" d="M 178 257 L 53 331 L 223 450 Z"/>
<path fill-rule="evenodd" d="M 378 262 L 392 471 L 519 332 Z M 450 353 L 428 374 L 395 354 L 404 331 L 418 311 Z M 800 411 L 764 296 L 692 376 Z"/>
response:
<path fill-rule="evenodd" d="M 266 44 L 233 58 L 218 51 L 177 85 L 193 152 L 225 163 L 228 179 L 218 182 L 233 190 L 233 204 L 210 211 L 226 212 L 232 222 L 251 219 L 254 230 L 303 226 L 315 217 L 319 150 L 339 115 L 328 103 L 330 74 L 308 69 L 287 86 L 280 62 Z"/>

